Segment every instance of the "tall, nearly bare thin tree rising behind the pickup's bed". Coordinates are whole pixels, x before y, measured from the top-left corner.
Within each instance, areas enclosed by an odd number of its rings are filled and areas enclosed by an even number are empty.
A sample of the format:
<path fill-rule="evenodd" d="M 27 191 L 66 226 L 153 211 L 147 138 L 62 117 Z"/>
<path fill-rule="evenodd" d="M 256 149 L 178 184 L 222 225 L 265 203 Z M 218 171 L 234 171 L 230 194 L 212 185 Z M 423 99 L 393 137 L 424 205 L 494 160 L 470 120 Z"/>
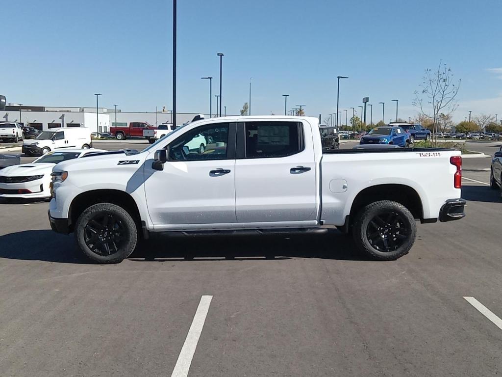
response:
<path fill-rule="evenodd" d="M 432 120 L 433 145 L 437 142 L 437 131 L 439 127 L 439 115 L 443 113 L 451 116 L 457 109 L 455 97 L 460 88 L 459 79 L 453 79 L 451 68 L 446 67 L 441 60 L 437 70 L 427 68 L 420 84 L 421 90 L 415 91 L 413 105 L 420 109 L 420 113 Z"/>

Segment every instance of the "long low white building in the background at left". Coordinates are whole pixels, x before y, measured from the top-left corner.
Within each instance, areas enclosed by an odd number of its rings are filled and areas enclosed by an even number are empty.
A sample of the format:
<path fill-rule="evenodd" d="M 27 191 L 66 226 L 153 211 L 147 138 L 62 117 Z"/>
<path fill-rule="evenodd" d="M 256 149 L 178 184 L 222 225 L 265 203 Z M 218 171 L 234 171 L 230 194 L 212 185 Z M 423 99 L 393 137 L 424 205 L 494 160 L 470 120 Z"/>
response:
<path fill-rule="evenodd" d="M 176 123 L 184 124 L 199 113 L 177 113 Z M 209 117 L 205 115 L 205 117 Z M 30 125 L 42 131 L 59 127 L 87 127 L 91 132 L 108 132 L 115 125 L 115 110 L 99 108 L 96 121 L 96 109 L 78 107 L 40 107 L 9 104 L 5 111 L 0 111 L 0 122 L 18 122 Z M 122 112 L 117 109 L 116 122 L 119 127 L 126 127 L 131 122 L 147 122 L 153 126 L 172 122 L 171 112 Z"/>

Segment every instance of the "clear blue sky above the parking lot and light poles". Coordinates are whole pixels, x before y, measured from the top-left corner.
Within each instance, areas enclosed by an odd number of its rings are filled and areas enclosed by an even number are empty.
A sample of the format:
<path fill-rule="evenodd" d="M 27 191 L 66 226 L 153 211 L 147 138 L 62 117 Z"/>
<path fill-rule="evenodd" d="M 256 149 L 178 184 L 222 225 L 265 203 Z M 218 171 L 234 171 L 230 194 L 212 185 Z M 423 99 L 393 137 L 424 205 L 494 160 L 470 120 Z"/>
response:
<path fill-rule="evenodd" d="M 2 78 L 8 102 L 117 104 L 154 111 L 172 104 L 170 0 L 24 0 L 2 5 Z M 467 111 L 502 118 L 500 0 L 178 0 L 178 111 L 208 112 L 223 58 L 223 105 L 236 114 L 253 77 L 253 114 L 306 105 L 323 118 L 369 96 L 373 121 L 415 115 L 425 68 L 442 59 L 462 79 L 456 120 Z M 498 70 L 497 70 L 498 68 Z M 491 69 L 491 70 L 490 70 Z M 214 98 L 213 98 L 214 99 Z M 215 107 L 213 101 L 213 109 Z M 369 114 L 369 113 L 368 113 Z"/>

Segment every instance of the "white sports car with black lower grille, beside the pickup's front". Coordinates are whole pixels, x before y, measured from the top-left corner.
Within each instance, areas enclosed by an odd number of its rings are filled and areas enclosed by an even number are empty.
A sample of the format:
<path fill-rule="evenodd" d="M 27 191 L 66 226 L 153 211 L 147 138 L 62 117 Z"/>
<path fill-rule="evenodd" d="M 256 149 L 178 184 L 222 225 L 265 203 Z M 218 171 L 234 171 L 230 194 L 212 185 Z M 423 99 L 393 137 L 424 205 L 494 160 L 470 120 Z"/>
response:
<path fill-rule="evenodd" d="M 32 163 L 8 166 L 0 170 L 0 198 L 44 199 L 51 197 L 51 172 L 58 162 L 102 149 L 65 149 L 49 152 Z"/>

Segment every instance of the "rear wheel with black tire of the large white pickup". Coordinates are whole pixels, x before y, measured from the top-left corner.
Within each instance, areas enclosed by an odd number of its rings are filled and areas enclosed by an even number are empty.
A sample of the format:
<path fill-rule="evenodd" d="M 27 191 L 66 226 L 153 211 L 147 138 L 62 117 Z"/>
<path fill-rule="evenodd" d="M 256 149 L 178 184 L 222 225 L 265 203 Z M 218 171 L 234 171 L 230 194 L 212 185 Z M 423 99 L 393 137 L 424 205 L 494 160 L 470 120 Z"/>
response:
<path fill-rule="evenodd" d="M 395 260 L 410 251 L 417 236 L 417 225 L 405 206 L 384 200 L 359 211 L 352 235 L 357 248 L 372 258 Z"/>

